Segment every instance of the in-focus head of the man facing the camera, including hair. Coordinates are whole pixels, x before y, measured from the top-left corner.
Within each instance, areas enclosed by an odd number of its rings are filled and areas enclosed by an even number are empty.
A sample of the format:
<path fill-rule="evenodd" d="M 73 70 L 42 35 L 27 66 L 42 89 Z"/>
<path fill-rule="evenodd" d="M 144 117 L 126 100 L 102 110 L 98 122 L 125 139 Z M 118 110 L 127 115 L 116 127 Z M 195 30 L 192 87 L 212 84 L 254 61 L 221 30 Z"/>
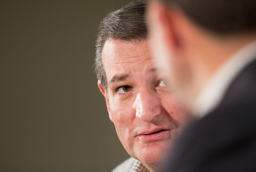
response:
<path fill-rule="evenodd" d="M 154 67 L 145 3 L 134 1 L 101 22 L 95 70 L 118 138 L 153 172 L 189 116 Z"/>

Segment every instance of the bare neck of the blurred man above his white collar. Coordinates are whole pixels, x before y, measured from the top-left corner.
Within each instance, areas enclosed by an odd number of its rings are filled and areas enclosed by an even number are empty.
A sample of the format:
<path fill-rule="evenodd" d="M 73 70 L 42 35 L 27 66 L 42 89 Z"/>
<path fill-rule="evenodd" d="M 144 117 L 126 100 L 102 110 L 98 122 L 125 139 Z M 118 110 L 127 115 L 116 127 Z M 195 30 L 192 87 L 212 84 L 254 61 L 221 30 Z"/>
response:
<path fill-rule="evenodd" d="M 226 38 L 212 38 L 210 41 L 201 43 L 202 46 L 198 49 L 199 53 L 195 53 L 196 60 L 191 61 L 194 63 L 192 66 L 194 66 L 193 75 L 195 79 L 192 83 L 193 89 L 191 89 L 189 104 L 194 103 L 200 90 L 204 88 L 222 64 L 242 47 L 255 40 L 256 35 L 237 35 Z"/>

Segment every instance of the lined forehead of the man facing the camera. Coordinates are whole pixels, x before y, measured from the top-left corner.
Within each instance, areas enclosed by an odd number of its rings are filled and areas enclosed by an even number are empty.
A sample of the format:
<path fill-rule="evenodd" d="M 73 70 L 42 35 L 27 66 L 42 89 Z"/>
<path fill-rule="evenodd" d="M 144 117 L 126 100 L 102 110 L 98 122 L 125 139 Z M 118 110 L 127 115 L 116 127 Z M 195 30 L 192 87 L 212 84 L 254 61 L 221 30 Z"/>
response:
<path fill-rule="evenodd" d="M 107 40 L 103 49 L 102 62 L 108 80 L 115 74 L 154 71 L 154 61 L 145 41 Z"/>

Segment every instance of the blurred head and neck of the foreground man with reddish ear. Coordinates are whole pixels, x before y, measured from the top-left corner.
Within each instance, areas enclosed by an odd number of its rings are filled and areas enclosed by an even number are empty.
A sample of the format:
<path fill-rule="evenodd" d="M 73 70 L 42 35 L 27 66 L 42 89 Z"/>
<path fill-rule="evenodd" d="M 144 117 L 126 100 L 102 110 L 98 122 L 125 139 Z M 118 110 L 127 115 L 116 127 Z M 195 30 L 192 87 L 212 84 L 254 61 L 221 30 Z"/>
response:
<path fill-rule="evenodd" d="M 180 98 L 192 105 L 219 66 L 255 39 L 255 0 L 151 0 L 156 61 Z"/>

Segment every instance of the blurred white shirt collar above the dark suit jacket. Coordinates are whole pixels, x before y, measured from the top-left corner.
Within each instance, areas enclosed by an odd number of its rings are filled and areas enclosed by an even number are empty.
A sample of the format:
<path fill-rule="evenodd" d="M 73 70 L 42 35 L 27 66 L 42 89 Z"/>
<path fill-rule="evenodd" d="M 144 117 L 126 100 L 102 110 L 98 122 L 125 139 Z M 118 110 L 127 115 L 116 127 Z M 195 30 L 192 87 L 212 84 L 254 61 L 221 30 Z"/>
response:
<path fill-rule="evenodd" d="M 231 82 L 255 59 L 256 41 L 244 46 L 222 64 L 196 97 L 192 111 L 195 117 L 201 118 L 212 112 L 219 105 Z"/>

